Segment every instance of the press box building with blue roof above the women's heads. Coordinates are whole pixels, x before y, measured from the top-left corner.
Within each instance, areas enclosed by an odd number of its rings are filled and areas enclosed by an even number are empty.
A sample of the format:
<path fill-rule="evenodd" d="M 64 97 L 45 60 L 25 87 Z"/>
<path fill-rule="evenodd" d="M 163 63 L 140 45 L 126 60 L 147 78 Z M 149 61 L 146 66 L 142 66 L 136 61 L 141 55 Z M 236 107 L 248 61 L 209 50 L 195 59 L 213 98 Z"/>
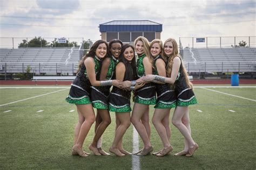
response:
<path fill-rule="evenodd" d="M 150 20 L 112 20 L 99 24 L 102 39 L 109 42 L 119 39 L 131 43 L 139 36 L 146 37 L 149 41 L 161 38 L 162 24 Z"/>

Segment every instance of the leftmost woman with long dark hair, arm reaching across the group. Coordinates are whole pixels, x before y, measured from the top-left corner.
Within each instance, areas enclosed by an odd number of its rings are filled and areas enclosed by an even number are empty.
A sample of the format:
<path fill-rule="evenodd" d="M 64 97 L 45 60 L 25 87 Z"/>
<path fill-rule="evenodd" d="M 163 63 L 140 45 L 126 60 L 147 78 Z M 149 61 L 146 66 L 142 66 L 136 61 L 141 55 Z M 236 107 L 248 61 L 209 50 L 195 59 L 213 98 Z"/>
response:
<path fill-rule="evenodd" d="M 91 125 L 95 122 L 95 113 L 90 99 L 90 87 L 92 86 L 116 86 L 122 87 L 122 82 L 118 80 L 97 81 L 96 73 L 99 71 L 100 60 L 107 53 L 107 43 L 104 40 L 96 41 L 89 53 L 87 53 L 79 64 L 77 76 L 71 84 L 70 92 L 66 101 L 76 104 L 78 112 L 78 123 L 75 128 L 74 146 L 72 154 L 79 154 L 87 157 L 89 153 L 83 151 L 83 143 Z"/>

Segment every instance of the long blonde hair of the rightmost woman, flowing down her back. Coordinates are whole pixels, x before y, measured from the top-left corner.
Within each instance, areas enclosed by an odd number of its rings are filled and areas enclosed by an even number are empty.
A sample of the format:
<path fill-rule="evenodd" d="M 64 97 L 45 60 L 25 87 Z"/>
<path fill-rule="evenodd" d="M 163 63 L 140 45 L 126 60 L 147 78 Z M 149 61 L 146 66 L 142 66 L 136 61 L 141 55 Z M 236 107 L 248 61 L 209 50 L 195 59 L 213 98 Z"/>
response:
<path fill-rule="evenodd" d="M 164 54 L 164 57 L 168 60 L 167 68 L 166 68 L 166 73 L 167 73 L 167 76 L 168 76 L 168 77 L 171 77 L 173 59 L 174 59 L 176 56 L 178 56 L 178 57 L 180 58 L 180 60 L 181 60 L 181 56 L 179 55 L 178 45 L 177 45 L 176 40 L 173 39 L 173 38 L 167 39 L 167 40 L 164 42 L 164 47 L 165 47 L 165 45 L 166 45 L 167 42 L 172 42 L 172 46 L 173 46 L 173 53 L 172 53 L 170 56 L 167 56 L 167 55 L 165 54 L 165 52 L 163 53 L 163 54 Z M 182 67 L 182 69 L 183 69 L 183 73 L 184 73 L 184 76 L 185 76 L 185 81 L 186 81 L 187 87 L 188 87 L 188 88 L 193 88 L 193 84 L 190 82 L 190 79 L 188 78 L 187 70 L 186 70 L 186 68 L 184 67 L 182 61 L 181 61 L 181 67 Z M 172 86 L 172 87 L 174 87 L 174 86 Z"/>

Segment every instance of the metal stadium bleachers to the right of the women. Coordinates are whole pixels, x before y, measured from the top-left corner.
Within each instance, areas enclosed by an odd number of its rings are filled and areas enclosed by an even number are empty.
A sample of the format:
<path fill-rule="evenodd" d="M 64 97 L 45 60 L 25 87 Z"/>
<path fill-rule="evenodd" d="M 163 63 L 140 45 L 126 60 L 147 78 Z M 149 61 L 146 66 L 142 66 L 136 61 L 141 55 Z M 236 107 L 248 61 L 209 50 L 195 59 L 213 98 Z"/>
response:
<path fill-rule="evenodd" d="M 256 48 L 187 47 L 183 59 L 188 72 L 256 72 Z"/>

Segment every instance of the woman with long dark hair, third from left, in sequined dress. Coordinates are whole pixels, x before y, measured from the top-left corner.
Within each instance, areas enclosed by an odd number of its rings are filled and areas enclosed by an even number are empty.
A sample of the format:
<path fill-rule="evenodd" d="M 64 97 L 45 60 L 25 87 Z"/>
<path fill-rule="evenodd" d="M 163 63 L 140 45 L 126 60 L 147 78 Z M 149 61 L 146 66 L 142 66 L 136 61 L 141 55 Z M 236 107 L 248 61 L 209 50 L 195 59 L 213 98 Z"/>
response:
<path fill-rule="evenodd" d="M 126 44 L 122 47 L 119 62 L 116 67 L 116 79 L 120 81 L 132 81 L 136 80 L 136 61 L 134 58 L 133 46 Z M 131 153 L 125 151 L 122 147 L 122 140 L 124 133 L 131 124 L 131 90 L 142 87 L 131 87 L 129 90 L 118 87 L 113 87 L 109 96 L 109 109 L 116 112 L 116 134 L 110 152 L 118 155 L 119 157 L 129 155 Z"/>

